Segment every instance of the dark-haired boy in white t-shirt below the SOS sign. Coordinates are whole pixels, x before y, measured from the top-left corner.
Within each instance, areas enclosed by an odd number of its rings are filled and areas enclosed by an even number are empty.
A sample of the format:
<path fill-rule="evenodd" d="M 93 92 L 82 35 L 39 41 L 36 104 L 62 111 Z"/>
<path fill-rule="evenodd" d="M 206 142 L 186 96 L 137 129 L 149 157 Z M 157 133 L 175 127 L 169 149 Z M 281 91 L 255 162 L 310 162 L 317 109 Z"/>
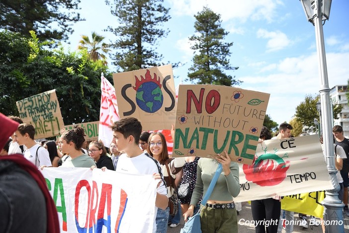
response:
<path fill-rule="evenodd" d="M 139 147 L 139 138 L 142 133 L 141 122 L 134 117 L 124 117 L 115 121 L 111 129 L 113 130 L 112 142 L 116 145 L 116 150 L 124 152 L 118 159 L 116 171 L 154 175 L 155 179 L 161 179 L 157 188 L 155 213 L 158 208 L 165 210 L 168 207 L 169 199 L 160 164 Z M 156 232 L 155 218 L 153 232 Z"/>

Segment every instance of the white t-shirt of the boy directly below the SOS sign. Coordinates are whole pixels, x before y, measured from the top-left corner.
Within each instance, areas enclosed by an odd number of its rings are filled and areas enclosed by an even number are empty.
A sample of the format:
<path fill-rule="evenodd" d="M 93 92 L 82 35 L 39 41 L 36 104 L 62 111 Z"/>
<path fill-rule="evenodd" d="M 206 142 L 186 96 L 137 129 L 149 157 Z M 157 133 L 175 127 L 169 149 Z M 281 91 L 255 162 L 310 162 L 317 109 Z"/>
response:
<path fill-rule="evenodd" d="M 126 154 L 121 154 L 117 161 L 116 171 L 132 174 L 153 175 L 154 173 L 161 173 L 160 163 L 149 154 L 142 153 L 136 157 L 129 158 Z M 162 174 L 162 173 L 161 173 Z M 164 183 L 157 188 L 159 194 L 167 195 L 167 188 Z M 158 207 L 155 207 L 155 213 L 158 212 Z M 156 233 L 156 223 L 154 218 L 153 233 Z"/>

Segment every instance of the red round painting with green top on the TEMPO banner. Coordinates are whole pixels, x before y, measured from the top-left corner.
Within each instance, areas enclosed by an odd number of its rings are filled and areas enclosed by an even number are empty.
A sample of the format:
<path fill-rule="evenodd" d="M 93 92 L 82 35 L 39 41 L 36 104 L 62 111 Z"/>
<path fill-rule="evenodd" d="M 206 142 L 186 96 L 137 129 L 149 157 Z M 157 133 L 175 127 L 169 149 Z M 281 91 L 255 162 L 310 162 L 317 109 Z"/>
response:
<path fill-rule="evenodd" d="M 243 171 L 248 181 L 259 186 L 274 186 L 280 184 L 286 178 L 286 172 L 290 166 L 290 161 L 284 161 L 288 157 L 287 153 L 283 157 L 275 153 L 266 153 L 266 147 L 262 148 L 264 154 L 256 156 L 252 165 L 243 165 Z"/>

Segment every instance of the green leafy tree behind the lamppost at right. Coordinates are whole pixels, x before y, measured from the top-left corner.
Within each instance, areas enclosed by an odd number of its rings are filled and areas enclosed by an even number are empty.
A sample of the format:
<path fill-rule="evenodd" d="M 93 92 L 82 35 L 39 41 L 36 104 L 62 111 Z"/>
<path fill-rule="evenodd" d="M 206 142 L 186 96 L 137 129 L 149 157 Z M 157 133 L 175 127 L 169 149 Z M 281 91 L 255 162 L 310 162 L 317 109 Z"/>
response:
<path fill-rule="evenodd" d="M 301 102 L 300 105 L 296 107 L 297 120 L 299 120 L 303 125 L 309 128 L 315 128 L 317 125 L 314 123 L 314 119 L 317 119 L 318 122 L 321 122 L 319 112 L 316 109 L 316 103 L 320 100 L 320 96 L 306 95 L 304 102 Z M 335 119 L 338 119 L 338 115 L 342 111 L 342 106 L 337 103 L 332 103 L 333 116 Z"/>

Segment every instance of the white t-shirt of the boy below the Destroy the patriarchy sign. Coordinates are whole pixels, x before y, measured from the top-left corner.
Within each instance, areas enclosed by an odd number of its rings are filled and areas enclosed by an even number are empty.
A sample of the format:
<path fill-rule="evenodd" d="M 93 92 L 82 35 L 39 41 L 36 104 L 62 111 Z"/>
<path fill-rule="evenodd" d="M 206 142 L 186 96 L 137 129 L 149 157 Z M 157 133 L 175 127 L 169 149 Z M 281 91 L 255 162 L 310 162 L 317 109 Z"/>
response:
<path fill-rule="evenodd" d="M 30 162 L 35 164 L 36 167 L 40 167 L 42 165 L 46 165 L 47 167 L 51 167 L 52 163 L 50 160 L 50 155 L 49 155 L 48 150 L 42 146 L 39 148 L 39 146 L 40 145 L 35 144 L 31 148 L 27 148 L 23 153 L 24 158 L 28 159 Z M 38 152 L 37 157 L 36 157 L 36 151 Z"/>

